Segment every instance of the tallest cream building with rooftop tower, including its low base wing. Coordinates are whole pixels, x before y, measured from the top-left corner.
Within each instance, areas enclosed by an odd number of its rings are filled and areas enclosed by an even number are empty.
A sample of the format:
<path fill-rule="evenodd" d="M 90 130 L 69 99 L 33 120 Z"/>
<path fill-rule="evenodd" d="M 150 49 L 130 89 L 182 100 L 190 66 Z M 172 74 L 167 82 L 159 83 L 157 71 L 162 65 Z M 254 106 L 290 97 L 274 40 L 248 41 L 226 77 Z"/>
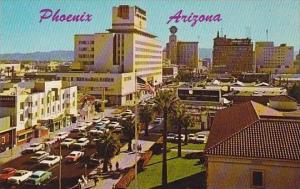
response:
<path fill-rule="evenodd" d="M 57 73 L 56 78 L 99 98 L 105 90 L 109 104 L 131 104 L 137 77 L 153 86 L 162 83 L 162 46 L 147 32 L 146 11 L 136 6 L 113 7 L 107 31 L 75 35 L 72 69 L 78 72 Z"/>

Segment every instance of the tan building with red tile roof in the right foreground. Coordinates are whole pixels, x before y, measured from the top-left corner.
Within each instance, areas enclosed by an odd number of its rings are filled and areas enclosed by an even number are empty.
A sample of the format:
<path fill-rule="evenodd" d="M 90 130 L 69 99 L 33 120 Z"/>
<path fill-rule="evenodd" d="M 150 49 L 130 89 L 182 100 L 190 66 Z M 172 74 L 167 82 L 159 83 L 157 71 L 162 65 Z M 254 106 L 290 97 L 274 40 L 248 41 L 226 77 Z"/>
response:
<path fill-rule="evenodd" d="M 205 154 L 208 189 L 300 188 L 300 119 L 252 101 L 220 110 Z"/>

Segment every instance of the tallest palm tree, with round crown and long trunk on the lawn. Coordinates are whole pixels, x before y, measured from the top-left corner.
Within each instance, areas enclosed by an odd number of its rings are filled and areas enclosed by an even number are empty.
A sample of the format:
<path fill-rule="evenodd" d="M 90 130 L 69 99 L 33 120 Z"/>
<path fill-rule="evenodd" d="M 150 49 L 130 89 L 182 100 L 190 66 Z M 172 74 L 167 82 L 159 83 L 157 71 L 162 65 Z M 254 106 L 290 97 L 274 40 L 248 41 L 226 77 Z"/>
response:
<path fill-rule="evenodd" d="M 154 110 L 159 114 L 163 115 L 163 160 L 162 160 L 162 185 L 167 186 L 168 173 L 167 173 L 167 123 L 170 114 L 172 114 L 179 102 L 178 98 L 174 95 L 173 91 L 161 90 L 157 93 L 154 98 Z"/>

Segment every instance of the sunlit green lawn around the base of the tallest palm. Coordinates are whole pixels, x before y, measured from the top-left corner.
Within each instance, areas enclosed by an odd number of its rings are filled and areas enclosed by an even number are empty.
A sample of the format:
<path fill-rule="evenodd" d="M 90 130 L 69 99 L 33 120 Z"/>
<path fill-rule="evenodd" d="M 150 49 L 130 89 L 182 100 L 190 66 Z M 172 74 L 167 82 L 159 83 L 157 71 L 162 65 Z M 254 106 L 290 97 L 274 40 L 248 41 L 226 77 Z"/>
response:
<path fill-rule="evenodd" d="M 168 144 L 172 147 L 172 144 Z M 191 144 L 191 148 L 195 145 Z M 198 149 L 198 148 L 197 148 Z M 182 153 L 182 157 L 186 153 Z M 168 152 L 168 183 L 184 180 L 187 177 L 193 177 L 204 170 L 202 165 L 199 165 L 198 159 L 177 158 L 177 152 Z M 148 189 L 159 187 L 161 185 L 161 169 L 162 155 L 153 155 L 145 170 L 138 174 L 138 188 Z M 200 176 L 196 175 L 196 179 L 200 180 Z M 129 185 L 129 189 L 134 189 L 134 180 Z M 197 181 L 196 181 L 197 182 Z M 176 183 L 175 183 L 176 184 Z M 173 187 L 171 187 L 173 188 Z"/>

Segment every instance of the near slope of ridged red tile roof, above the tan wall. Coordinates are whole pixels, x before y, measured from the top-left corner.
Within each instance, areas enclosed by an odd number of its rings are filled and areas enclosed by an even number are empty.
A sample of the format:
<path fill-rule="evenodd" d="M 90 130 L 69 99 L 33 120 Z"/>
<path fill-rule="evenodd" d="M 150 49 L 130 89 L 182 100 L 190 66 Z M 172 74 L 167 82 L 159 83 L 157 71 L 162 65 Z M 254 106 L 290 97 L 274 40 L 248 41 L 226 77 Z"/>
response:
<path fill-rule="evenodd" d="M 206 154 L 300 160 L 300 121 L 261 119 L 206 148 Z"/>

